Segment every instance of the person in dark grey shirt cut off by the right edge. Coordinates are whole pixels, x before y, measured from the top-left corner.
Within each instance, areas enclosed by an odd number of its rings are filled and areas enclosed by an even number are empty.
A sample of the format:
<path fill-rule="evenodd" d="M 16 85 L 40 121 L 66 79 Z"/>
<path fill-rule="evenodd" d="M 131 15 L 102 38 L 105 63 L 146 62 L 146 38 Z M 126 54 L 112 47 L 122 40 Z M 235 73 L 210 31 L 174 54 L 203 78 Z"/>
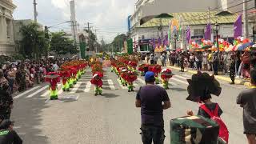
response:
<path fill-rule="evenodd" d="M 243 126 L 248 144 L 256 143 L 256 70 L 250 72 L 251 89 L 238 95 L 237 104 L 243 108 Z"/>

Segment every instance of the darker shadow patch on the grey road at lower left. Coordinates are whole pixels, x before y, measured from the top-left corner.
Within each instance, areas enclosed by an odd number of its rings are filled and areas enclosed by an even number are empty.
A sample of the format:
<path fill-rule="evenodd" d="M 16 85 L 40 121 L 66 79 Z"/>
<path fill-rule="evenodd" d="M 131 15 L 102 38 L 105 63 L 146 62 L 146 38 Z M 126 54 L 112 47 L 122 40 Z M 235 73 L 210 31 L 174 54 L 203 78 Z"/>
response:
<path fill-rule="evenodd" d="M 42 110 L 46 106 L 45 100 L 32 98 L 18 98 L 14 101 L 14 110 L 11 119 L 15 121 L 14 130 L 18 132 L 26 144 L 47 144 L 46 135 L 42 135 L 40 126 L 42 124 Z"/>

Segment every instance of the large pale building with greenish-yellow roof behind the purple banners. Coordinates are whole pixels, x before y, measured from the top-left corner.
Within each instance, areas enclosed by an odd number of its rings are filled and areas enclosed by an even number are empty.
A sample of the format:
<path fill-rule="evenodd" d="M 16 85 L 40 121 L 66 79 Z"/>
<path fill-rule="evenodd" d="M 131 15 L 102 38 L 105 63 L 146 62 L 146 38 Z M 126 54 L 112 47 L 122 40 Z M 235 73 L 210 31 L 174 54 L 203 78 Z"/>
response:
<path fill-rule="evenodd" d="M 210 15 L 208 10 L 210 8 Z M 254 9 L 254 1 L 247 2 L 249 10 Z M 214 11 L 212 11 L 214 10 Z M 228 10 L 234 13 L 230 16 L 218 16 L 222 10 Z M 249 11 L 248 10 L 248 11 Z M 128 34 L 133 39 L 135 51 L 150 50 L 150 39 L 158 39 L 167 34 L 170 19 L 154 18 L 159 14 L 170 14 L 179 20 L 182 26 L 182 37 L 178 39 L 177 47 L 185 48 L 186 35 L 185 30 L 190 26 L 191 38 L 199 40 L 204 38 L 206 24 L 218 22 L 220 24 L 219 37 L 232 39 L 234 35 L 234 22 L 238 18 L 238 14 L 242 12 L 242 1 L 233 0 L 138 0 L 135 3 L 134 14 L 130 16 L 130 31 Z M 256 13 L 252 12 L 252 13 Z M 256 15 L 256 14 L 255 14 Z M 153 19 L 150 19 L 153 18 Z M 216 19 L 217 18 L 217 19 Z M 250 18 L 249 35 L 253 38 L 255 34 L 255 18 Z M 162 30 L 159 30 L 162 28 Z M 212 38 L 214 40 L 214 30 L 212 30 Z M 181 39 L 182 38 L 182 39 Z"/>

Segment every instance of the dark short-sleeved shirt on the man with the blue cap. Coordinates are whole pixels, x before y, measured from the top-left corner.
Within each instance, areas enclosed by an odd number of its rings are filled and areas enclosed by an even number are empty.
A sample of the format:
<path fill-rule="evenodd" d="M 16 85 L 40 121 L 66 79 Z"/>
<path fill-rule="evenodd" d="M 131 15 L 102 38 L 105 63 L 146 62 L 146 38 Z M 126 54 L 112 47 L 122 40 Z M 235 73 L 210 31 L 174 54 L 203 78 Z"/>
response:
<path fill-rule="evenodd" d="M 142 86 L 136 99 L 142 103 L 142 124 L 163 126 L 162 102 L 170 101 L 166 90 L 156 85 Z"/>

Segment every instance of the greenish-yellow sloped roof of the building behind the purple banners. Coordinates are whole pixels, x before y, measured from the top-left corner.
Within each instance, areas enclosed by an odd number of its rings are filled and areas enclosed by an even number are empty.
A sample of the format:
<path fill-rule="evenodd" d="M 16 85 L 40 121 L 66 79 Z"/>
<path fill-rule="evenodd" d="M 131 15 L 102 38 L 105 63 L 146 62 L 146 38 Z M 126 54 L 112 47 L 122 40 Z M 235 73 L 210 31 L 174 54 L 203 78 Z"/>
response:
<path fill-rule="evenodd" d="M 210 13 L 210 23 L 215 23 L 216 21 L 219 24 L 230 24 L 234 23 L 239 14 L 232 14 L 229 16 L 218 16 L 215 17 L 215 14 L 218 12 Z M 182 22 L 182 25 L 186 26 L 195 26 L 195 25 L 206 25 L 208 23 L 208 12 L 190 12 L 190 13 L 170 13 L 174 18 Z M 146 28 L 146 27 L 155 27 L 160 26 L 162 19 L 162 26 L 169 26 L 170 20 L 172 18 L 153 18 L 150 21 L 137 26 L 137 28 Z M 255 21 L 254 21 L 255 22 Z"/>

